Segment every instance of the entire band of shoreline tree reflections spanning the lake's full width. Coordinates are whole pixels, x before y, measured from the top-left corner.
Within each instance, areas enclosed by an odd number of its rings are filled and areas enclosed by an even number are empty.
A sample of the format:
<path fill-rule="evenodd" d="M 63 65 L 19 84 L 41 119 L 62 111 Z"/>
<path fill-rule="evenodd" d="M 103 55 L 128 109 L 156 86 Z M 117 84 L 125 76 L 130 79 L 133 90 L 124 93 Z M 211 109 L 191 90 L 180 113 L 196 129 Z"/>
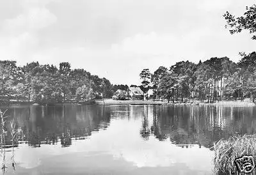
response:
<path fill-rule="evenodd" d="M 17 141 L 29 146 L 57 144 L 68 147 L 92 132 L 106 130 L 111 119 L 141 120 L 140 135 L 148 141 L 170 141 L 182 148 L 195 144 L 211 148 L 213 142 L 232 135 L 256 133 L 253 107 L 215 106 L 93 106 L 13 107 L 8 115 L 16 119 Z M 8 132 L 7 143 L 11 135 Z M 8 142 L 9 141 L 9 142 Z"/>

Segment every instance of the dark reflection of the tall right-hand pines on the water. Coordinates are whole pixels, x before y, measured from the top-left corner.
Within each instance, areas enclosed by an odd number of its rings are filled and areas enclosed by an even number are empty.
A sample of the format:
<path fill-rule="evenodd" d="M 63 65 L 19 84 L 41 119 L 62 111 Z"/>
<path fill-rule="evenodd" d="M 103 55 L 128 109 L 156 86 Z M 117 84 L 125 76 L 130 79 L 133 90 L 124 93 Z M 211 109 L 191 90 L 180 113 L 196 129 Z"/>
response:
<path fill-rule="evenodd" d="M 194 144 L 212 148 L 220 139 L 256 133 L 255 108 L 215 106 L 154 107 L 152 133 L 159 141 L 189 148 Z"/>

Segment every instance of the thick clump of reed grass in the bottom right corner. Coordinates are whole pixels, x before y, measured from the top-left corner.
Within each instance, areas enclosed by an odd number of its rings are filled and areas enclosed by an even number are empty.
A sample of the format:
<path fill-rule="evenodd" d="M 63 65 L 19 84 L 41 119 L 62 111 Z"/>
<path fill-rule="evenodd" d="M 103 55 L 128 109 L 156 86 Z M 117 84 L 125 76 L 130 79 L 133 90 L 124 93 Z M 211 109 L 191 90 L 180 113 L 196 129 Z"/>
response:
<path fill-rule="evenodd" d="M 244 155 L 252 155 L 256 163 L 256 134 L 233 136 L 228 140 L 218 141 L 214 144 L 215 174 L 239 174 L 235 160 Z"/>

